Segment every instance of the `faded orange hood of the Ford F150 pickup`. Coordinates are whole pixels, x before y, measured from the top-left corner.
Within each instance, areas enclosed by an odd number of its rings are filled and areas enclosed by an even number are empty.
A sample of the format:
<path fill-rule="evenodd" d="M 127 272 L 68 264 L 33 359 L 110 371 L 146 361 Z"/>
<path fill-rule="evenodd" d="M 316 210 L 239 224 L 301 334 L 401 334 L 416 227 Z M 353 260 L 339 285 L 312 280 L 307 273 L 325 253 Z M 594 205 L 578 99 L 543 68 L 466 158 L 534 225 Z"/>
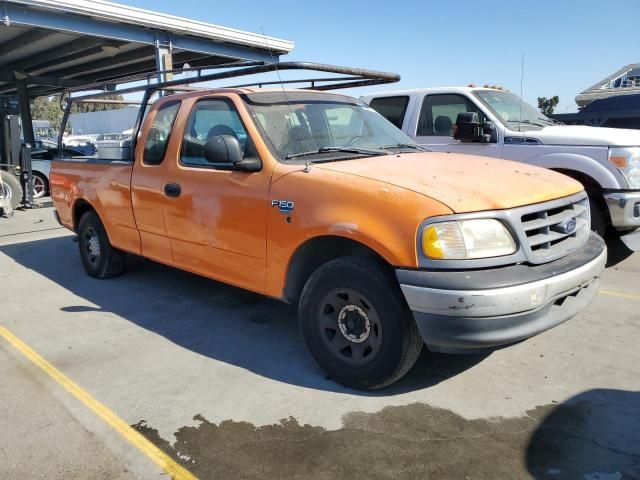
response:
<path fill-rule="evenodd" d="M 454 153 L 409 153 L 316 164 L 437 200 L 456 213 L 520 207 L 572 195 L 582 185 L 551 170 Z"/>

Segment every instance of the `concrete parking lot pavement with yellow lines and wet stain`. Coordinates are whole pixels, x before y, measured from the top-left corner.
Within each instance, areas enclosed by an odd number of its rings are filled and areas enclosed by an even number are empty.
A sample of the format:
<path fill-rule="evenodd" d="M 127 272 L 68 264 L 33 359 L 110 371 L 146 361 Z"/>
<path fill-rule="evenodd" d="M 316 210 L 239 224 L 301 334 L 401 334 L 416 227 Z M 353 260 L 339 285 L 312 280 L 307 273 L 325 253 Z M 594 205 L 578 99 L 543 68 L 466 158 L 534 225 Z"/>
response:
<path fill-rule="evenodd" d="M 94 280 L 72 238 L 50 207 L 0 219 L 0 478 L 640 478 L 640 254 L 619 244 L 578 317 L 363 393 L 286 305 L 137 258 Z"/>

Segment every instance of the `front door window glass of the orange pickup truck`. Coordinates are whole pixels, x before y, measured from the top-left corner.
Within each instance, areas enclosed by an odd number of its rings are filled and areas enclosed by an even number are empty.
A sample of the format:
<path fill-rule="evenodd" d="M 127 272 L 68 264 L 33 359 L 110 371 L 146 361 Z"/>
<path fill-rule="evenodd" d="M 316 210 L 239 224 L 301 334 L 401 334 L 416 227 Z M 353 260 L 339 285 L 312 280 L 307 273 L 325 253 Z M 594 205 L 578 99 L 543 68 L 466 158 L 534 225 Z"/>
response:
<path fill-rule="evenodd" d="M 210 99 L 196 103 L 189 115 L 182 140 L 180 162 L 183 165 L 215 168 L 216 164 L 204 158 L 204 144 L 217 135 L 231 135 L 237 138 L 244 158 L 258 156 L 234 105 L 228 100 Z"/>

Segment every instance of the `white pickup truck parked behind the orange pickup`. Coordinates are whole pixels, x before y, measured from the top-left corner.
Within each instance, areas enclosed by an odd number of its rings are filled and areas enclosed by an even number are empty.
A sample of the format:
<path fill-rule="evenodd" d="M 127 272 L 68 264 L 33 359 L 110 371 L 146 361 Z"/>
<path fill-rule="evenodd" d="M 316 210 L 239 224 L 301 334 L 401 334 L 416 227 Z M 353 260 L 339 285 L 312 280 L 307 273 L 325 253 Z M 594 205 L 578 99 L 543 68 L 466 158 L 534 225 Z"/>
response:
<path fill-rule="evenodd" d="M 612 226 L 638 248 L 640 131 L 561 125 L 495 88 L 421 88 L 361 99 L 430 150 L 517 160 L 573 177 L 589 194 L 592 229 L 603 235 Z"/>

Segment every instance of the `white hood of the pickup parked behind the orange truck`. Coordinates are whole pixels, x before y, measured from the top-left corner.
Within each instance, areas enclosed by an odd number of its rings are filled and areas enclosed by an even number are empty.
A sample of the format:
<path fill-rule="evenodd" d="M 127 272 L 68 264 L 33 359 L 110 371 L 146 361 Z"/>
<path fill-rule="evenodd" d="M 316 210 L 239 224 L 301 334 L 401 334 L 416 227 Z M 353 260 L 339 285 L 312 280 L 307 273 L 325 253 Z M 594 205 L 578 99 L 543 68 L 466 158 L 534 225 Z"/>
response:
<path fill-rule="evenodd" d="M 530 130 L 523 135 L 545 145 L 640 146 L 640 131 L 624 128 L 553 125 L 542 130 Z"/>

